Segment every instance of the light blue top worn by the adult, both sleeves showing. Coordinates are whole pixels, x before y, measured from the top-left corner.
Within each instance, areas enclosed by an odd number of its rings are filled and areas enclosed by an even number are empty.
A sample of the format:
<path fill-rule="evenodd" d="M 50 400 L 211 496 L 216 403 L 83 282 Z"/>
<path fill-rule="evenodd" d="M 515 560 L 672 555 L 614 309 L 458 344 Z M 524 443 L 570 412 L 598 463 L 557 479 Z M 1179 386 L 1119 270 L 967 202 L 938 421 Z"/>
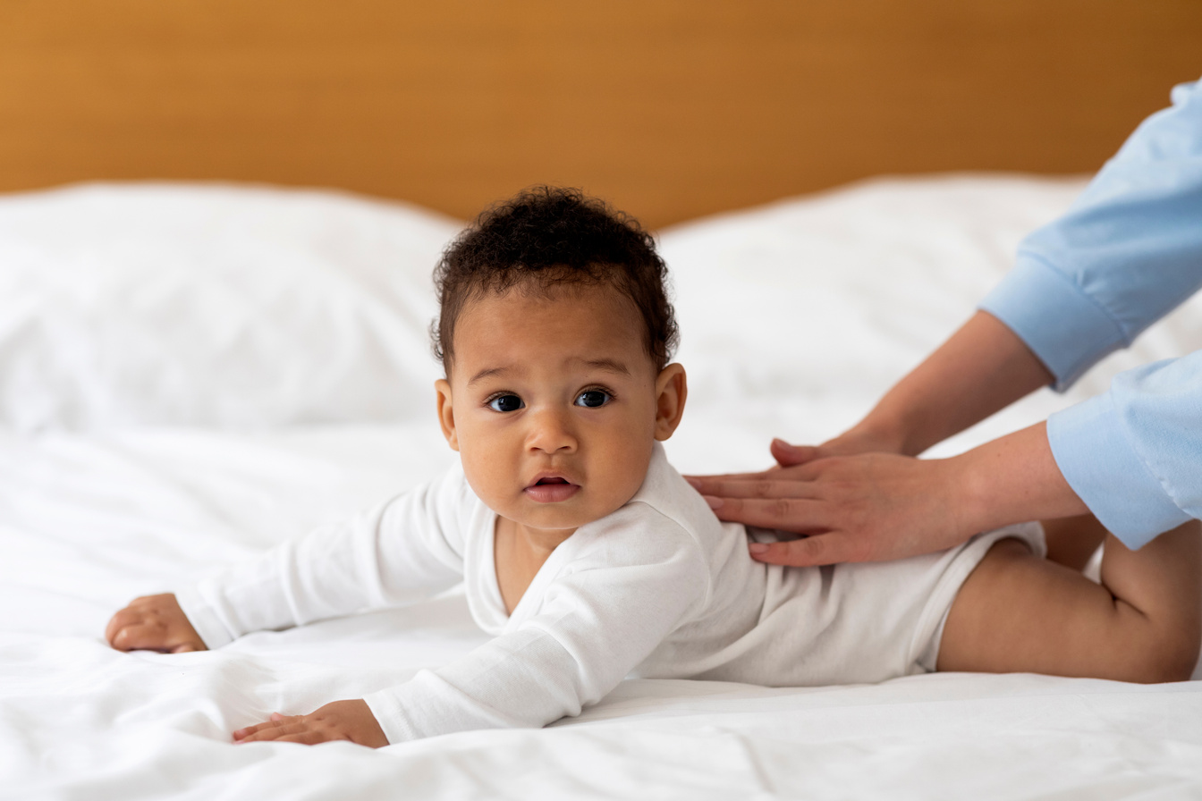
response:
<path fill-rule="evenodd" d="M 1202 82 L 1173 90 L 981 304 L 1072 384 L 1202 286 Z M 1061 473 L 1138 548 L 1202 514 L 1202 352 L 1118 376 L 1048 419 Z"/>

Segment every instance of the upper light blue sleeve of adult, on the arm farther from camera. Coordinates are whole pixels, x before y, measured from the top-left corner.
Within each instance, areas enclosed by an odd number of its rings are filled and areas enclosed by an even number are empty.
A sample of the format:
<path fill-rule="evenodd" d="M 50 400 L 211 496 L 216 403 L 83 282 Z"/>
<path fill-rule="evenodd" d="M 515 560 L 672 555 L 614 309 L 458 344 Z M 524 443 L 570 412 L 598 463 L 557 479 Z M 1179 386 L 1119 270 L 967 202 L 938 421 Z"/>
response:
<path fill-rule="evenodd" d="M 1065 389 L 1202 286 L 1202 82 L 1173 89 L 981 303 Z"/>

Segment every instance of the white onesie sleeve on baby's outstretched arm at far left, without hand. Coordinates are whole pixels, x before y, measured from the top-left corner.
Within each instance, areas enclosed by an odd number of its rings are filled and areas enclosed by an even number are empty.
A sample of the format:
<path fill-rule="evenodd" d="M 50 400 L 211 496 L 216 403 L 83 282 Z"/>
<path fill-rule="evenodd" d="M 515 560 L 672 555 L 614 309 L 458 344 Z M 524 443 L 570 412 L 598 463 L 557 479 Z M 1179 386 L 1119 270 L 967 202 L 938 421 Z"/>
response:
<path fill-rule="evenodd" d="M 457 480 L 458 478 L 458 480 Z M 210 648 L 250 632 L 416 600 L 463 576 L 469 490 L 454 471 L 177 592 Z"/>

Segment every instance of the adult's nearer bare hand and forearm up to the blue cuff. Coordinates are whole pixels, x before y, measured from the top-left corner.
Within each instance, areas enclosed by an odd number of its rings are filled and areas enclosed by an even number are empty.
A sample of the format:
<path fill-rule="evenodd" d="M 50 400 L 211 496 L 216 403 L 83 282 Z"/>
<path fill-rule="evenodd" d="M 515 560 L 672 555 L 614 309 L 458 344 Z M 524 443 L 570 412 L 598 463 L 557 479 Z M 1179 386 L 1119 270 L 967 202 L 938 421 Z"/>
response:
<path fill-rule="evenodd" d="M 797 567 L 917 556 L 1008 524 L 1089 512 L 1043 423 L 951 459 L 865 453 L 689 482 L 722 520 L 808 534 L 749 546 L 761 562 Z"/>

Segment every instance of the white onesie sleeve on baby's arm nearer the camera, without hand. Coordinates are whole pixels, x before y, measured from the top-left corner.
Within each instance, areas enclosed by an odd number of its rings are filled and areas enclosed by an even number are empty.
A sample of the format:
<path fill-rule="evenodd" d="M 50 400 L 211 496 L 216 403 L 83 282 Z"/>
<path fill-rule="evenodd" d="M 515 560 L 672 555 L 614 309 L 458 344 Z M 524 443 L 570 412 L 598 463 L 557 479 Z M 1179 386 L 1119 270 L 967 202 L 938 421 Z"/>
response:
<path fill-rule="evenodd" d="M 630 503 L 552 554 L 496 639 L 364 700 L 393 743 L 546 725 L 617 687 L 708 593 L 696 540 Z"/>

